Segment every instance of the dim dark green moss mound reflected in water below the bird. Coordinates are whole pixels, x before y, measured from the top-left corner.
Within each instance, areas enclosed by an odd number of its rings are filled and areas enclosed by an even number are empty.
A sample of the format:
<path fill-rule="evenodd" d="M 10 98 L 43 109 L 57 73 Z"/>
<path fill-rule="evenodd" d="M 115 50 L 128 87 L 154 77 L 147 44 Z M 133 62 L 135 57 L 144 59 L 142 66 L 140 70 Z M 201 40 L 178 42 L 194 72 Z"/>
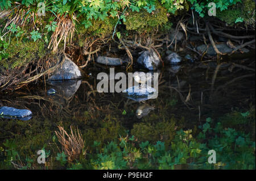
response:
<path fill-rule="evenodd" d="M 163 120 L 156 123 L 137 123 L 133 125 L 131 134 L 138 138 L 139 141 L 164 141 L 170 144 L 175 136 L 176 120 Z"/>

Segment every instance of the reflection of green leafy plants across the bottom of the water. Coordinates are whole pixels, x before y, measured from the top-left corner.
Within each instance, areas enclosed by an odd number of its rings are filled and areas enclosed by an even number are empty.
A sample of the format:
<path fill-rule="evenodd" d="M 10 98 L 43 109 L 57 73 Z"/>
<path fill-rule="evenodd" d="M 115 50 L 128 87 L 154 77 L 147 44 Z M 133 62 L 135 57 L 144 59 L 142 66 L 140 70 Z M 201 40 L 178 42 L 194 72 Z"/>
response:
<path fill-rule="evenodd" d="M 26 131 L 23 136 L 7 139 L 0 145 L 0 168 L 176 169 L 183 165 L 187 169 L 255 169 L 255 108 L 233 111 L 215 120 L 208 117 L 193 129 L 176 127 L 174 118 L 153 124 L 143 117 L 130 132 L 110 115 L 94 123 L 97 127 L 93 129 L 88 127 L 92 124 L 89 119 L 85 112 L 85 126 L 77 120 L 80 129 L 73 132 L 63 121 L 60 132 L 49 131 L 57 128 L 48 125 L 43 134 Z M 254 133 L 242 131 L 237 125 L 254 127 Z M 61 132 L 70 139 L 63 140 Z M 72 144 L 76 145 L 75 152 L 65 149 Z M 38 150 L 45 151 L 46 163 L 37 162 Z M 209 150 L 216 151 L 216 163 L 208 163 Z"/>

